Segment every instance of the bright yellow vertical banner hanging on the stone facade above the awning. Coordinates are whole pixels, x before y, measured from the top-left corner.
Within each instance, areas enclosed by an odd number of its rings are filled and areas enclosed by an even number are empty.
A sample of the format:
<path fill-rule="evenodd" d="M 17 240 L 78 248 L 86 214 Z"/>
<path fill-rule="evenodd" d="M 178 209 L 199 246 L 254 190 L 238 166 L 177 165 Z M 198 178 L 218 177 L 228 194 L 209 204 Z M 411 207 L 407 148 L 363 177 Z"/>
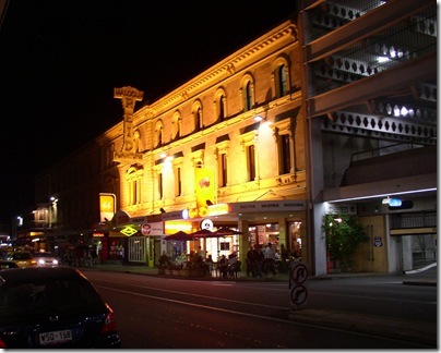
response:
<path fill-rule="evenodd" d="M 196 207 L 200 217 L 205 217 L 207 214 L 207 204 L 214 204 L 214 171 L 210 168 L 194 168 L 194 181 L 196 191 Z"/>

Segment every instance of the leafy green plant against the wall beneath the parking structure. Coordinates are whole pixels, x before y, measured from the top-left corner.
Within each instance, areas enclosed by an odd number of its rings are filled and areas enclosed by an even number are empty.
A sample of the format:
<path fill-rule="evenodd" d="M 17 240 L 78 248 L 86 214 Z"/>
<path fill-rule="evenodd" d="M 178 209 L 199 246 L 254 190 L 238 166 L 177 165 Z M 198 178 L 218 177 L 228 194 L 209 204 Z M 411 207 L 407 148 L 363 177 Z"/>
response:
<path fill-rule="evenodd" d="M 324 215 L 322 229 L 330 259 L 337 263 L 341 270 L 350 270 L 358 245 L 369 240 L 363 226 L 354 215 Z"/>

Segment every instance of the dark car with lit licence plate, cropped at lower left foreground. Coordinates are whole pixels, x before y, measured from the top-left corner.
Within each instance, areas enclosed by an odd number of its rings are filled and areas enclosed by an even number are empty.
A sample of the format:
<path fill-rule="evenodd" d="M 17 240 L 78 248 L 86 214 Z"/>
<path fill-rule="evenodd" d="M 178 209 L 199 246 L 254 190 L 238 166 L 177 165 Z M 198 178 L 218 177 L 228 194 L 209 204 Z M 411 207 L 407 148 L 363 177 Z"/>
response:
<path fill-rule="evenodd" d="M 115 313 L 78 269 L 0 271 L 0 349 L 120 348 Z"/>

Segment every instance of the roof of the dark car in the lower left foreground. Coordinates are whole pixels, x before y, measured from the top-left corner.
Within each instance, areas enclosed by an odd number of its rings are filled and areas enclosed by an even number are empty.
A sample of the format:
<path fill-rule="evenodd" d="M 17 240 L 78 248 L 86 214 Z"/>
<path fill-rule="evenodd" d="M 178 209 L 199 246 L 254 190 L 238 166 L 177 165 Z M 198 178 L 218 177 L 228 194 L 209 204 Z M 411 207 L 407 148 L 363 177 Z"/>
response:
<path fill-rule="evenodd" d="M 51 279 L 78 279 L 85 278 L 82 272 L 72 267 L 32 267 L 32 268 L 11 268 L 0 271 L 0 282 L 20 283 L 32 280 L 51 280 Z"/>

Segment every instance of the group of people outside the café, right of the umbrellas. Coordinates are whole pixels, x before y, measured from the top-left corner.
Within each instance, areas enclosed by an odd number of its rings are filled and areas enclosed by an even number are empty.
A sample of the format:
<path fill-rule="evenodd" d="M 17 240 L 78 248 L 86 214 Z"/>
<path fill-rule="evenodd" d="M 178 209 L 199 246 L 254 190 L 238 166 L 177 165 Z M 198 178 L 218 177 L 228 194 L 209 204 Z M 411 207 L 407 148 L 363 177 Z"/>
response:
<path fill-rule="evenodd" d="M 281 245 L 279 254 L 276 252 L 275 246 L 272 243 L 267 243 L 264 249 L 257 244 L 254 247 L 250 247 L 247 252 L 247 276 L 254 278 L 262 278 L 265 276 L 277 276 L 276 259 L 281 259 L 281 271 L 286 270 L 286 260 L 288 253 L 284 246 Z"/>

